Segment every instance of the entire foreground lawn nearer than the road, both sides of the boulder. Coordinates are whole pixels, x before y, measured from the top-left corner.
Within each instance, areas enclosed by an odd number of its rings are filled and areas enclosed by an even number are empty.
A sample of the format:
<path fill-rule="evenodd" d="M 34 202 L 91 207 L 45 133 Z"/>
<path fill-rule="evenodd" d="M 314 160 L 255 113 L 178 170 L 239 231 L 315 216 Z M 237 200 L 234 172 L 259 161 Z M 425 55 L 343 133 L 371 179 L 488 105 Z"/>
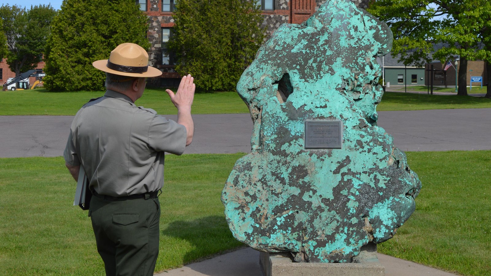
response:
<path fill-rule="evenodd" d="M 423 189 L 416 211 L 379 251 L 462 275 L 491 275 L 491 151 L 408 152 Z M 242 244 L 220 194 L 243 154 L 166 157 L 157 270 Z M 61 157 L 0 159 L 2 275 L 103 275 L 87 212 Z"/>

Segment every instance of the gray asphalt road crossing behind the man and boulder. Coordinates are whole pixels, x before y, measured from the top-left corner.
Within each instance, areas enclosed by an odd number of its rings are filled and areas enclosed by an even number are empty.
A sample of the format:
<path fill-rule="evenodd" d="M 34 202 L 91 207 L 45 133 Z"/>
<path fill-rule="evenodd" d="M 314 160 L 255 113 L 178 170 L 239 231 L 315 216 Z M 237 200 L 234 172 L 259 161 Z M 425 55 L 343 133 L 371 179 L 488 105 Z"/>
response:
<path fill-rule="evenodd" d="M 249 114 L 201 114 L 193 119 L 194 139 L 186 153 L 250 152 Z M 0 116 L 0 158 L 61 156 L 72 120 Z M 379 111 L 378 125 L 403 151 L 491 149 L 491 109 Z"/>

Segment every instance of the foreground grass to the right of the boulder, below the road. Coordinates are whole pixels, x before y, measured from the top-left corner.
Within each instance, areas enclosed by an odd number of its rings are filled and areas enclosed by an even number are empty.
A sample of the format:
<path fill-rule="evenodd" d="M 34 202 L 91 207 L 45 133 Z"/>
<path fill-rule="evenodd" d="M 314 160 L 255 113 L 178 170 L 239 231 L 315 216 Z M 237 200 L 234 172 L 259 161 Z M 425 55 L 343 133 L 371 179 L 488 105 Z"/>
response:
<path fill-rule="evenodd" d="M 379 252 L 462 275 L 491 275 L 491 151 L 408 152 L 423 188 Z"/>

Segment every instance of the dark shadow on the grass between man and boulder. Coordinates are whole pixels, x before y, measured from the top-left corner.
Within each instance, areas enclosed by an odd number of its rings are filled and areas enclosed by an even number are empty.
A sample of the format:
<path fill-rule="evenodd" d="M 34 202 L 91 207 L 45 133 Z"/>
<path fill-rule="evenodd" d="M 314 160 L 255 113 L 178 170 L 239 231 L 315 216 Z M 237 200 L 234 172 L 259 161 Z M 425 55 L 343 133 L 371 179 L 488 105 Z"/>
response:
<path fill-rule="evenodd" d="M 223 216 L 173 221 L 161 230 L 161 234 L 185 240 L 193 246 L 193 249 L 183 256 L 184 264 L 202 261 L 210 255 L 244 245 L 232 236 Z"/>

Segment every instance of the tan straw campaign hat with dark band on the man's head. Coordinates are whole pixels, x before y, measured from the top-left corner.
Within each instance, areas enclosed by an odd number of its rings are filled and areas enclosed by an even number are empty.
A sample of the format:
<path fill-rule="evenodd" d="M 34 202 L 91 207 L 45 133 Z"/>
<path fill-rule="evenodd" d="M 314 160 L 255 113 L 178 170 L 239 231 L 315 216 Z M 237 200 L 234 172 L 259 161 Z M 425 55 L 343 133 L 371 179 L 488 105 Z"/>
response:
<path fill-rule="evenodd" d="M 158 77 L 162 72 L 148 66 L 145 49 L 134 43 L 123 43 L 111 51 L 109 59 L 97 60 L 92 65 L 104 72 L 115 75 L 145 78 Z"/>

